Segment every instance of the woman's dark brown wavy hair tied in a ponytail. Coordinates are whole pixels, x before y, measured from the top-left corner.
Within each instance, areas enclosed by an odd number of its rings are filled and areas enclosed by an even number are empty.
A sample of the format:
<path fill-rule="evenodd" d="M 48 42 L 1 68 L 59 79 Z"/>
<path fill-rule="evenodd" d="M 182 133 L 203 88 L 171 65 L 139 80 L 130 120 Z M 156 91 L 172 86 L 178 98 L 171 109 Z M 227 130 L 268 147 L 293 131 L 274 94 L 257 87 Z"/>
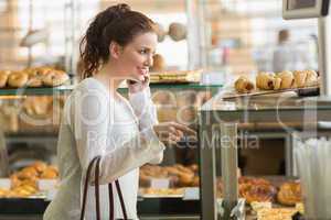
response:
<path fill-rule="evenodd" d="M 98 13 L 79 43 L 82 78 L 93 76 L 109 59 L 109 44 L 126 46 L 138 34 L 156 32 L 154 22 L 120 3 Z"/>

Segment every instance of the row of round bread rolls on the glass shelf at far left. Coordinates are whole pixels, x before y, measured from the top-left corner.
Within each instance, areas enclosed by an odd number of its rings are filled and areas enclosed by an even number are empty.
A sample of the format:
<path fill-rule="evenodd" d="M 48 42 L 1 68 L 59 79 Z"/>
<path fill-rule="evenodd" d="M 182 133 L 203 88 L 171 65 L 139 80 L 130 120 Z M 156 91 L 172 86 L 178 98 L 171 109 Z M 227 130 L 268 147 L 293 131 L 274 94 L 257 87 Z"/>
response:
<path fill-rule="evenodd" d="M 0 70 L 0 88 L 55 87 L 63 85 L 68 79 L 66 73 L 52 67 Z"/>

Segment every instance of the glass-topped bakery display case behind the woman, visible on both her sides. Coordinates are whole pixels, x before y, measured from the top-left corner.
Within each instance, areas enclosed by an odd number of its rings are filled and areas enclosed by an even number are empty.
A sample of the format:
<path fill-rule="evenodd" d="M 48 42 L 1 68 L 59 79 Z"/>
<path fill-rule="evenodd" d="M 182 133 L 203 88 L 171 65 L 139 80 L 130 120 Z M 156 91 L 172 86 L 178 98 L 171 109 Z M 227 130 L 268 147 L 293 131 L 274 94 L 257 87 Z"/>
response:
<path fill-rule="evenodd" d="M 221 88 L 200 84 L 150 87 L 159 121 L 175 120 L 193 129 L 197 127 L 197 108 Z M 42 218 L 56 191 L 57 131 L 62 108 L 73 88 L 74 85 L 0 89 L 1 130 L 9 162 L 8 170 L 3 172 L 7 175 L 0 179 L 0 219 L 20 219 L 25 215 L 31 219 Z M 119 91 L 127 95 L 126 88 Z M 195 141 L 183 139 L 179 147 L 164 152 L 162 164 L 141 167 L 138 198 L 141 219 L 199 218 L 196 150 Z M 50 179 L 53 182 L 47 183 Z M 18 206 L 22 209 L 18 210 Z"/>

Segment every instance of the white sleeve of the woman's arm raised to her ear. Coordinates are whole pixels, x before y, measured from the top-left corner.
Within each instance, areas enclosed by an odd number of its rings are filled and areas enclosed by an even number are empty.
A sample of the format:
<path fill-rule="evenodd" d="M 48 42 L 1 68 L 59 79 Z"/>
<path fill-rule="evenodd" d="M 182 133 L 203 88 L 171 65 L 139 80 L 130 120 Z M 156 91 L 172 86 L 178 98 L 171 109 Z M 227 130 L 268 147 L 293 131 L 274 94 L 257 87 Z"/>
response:
<path fill-rule="evenodd" d="M 150 88 L 147 87 L 142 91 L 129 94 L 129 101 L 139 120 L 140 130 L 151 128 L 158 123 L 157 108 L 151 100 Z M 163 160 L 163 151 L 160 152 L 149 163 L 160 164 Z"/>

